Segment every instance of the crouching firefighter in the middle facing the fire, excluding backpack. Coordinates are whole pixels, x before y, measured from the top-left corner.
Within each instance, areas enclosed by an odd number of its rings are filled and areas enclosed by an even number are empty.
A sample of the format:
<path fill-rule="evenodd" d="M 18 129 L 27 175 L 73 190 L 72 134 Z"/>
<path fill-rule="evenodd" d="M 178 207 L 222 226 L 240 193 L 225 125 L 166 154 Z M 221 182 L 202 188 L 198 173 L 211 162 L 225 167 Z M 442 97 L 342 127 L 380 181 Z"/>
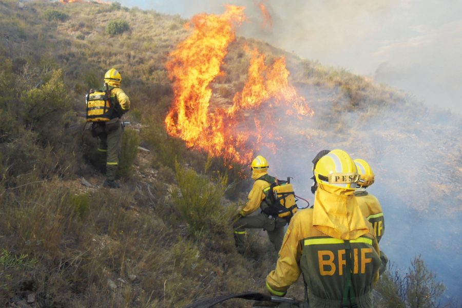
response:
<path fill-rule="evenodd" d="M 239 218 L 234 222 L 234 239 L 239 253 L 245 250 L 245 229 L 258 228 L 265 229 L 269 241 L 273 244 L 276 252 L 281 248 L 284 238 L 284 227 L 287 221 L 284 218 L 273 217 L 265 214 L 268 207 L 265 201 L 265 188 L 276 182 L 276 178 L 268 175 L 268 162 L 263 156 L 257 156 L 252 161 L 252 179 L 255 181 L 252 190 L 248 193 L 247 203 L 239 211 Z M 251 215 L 256 210 L 261 209 L 261 213 Z"/>

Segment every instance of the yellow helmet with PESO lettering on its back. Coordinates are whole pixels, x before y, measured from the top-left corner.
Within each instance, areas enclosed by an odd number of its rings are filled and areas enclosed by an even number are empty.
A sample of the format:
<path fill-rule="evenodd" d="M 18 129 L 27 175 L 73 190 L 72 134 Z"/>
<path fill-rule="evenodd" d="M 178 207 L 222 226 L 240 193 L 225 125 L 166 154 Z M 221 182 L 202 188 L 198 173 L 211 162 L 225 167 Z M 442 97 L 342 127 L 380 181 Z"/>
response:
<path fill-rule="evenodd" d="M 314 169 L 316 182 L 343 189 L 356 189 L 359 174 L 355 162 L 343 150 L 332 150 L 321 157 Z"/>

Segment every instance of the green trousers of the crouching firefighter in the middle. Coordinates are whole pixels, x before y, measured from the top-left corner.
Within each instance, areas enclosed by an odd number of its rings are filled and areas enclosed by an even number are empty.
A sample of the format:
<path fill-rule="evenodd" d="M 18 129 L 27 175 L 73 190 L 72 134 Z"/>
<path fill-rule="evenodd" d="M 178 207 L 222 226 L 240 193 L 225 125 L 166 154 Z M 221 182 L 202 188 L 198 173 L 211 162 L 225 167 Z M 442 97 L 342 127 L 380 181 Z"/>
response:
<path fill-rule="evenodd" d="M 245 249 L 245 229 L 265 229 L 268 234 L 269 241 L 273 244 L 276 252 L 281 249 L 282 240 L 285 235 L 286 221 L 283 218 L 269 218 L 263 213 L 245 216 L 239 218 L 234 224 L 234 240 L 236 242 L 237 251 L 244 252 Z"/>

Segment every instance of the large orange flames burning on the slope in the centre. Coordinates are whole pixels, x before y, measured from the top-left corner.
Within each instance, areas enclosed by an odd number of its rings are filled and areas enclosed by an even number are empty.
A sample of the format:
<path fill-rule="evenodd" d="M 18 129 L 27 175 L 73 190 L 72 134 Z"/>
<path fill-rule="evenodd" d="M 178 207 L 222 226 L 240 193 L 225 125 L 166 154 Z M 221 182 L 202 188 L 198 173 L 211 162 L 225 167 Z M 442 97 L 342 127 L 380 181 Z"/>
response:
<path fill-rule="evenodd" d="M 191 148 L 222 157 L 225 164 L 248 163 L 261 147 L 276 151 L 272 110 L 282 106 L 299 117 L 312 115 L 295 88 L 288 81 L 285 59 L 265 64 L 265 55 L 251 53 L 248 78 L 242 92 L 235 94 L 228 108 L 210 106 L 210 84 L 222 75 L 220 66 L 227 47 L 235 40 L 234 26 L 246 20 L 244 7 L 226 6 L 222 15 L 199 14 L 192 17 L 186 28 L 193 28 L 185 41 L 170 53 L 166 64 L 174 88 L 174 101 L 165 118 L 167 132 L 179 137 Z M 291 102 L 291 105 L 288 103 Z M 245 119 L 254 110 L 253 121 Z M 274 111 L 274 110 L 273 110 Z"/>

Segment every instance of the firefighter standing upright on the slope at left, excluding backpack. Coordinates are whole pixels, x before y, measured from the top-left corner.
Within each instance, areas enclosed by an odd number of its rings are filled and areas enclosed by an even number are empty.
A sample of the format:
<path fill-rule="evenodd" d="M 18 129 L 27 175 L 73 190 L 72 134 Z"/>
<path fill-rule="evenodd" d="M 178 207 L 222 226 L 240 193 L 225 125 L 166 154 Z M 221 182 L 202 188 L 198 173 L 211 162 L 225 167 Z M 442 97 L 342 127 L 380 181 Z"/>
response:
<path fill-rule="evenodd" d="M 104 75 L 104 86 L 98 91 L 108 91 L 114 106 L 108 122 L 93 122 L 92 135 L 98 137 L 98 155 L 101 169 L 105 170 L 106 180 L 103 186 L 119 188 L 115 182 L 115 174 L 119 166 L 119 152 L 122 146 L 123 125 L 122 115 L 130 109 L 130 100 L 120 88 L 122 76 L 118 70 L 111 68 Z"/>

